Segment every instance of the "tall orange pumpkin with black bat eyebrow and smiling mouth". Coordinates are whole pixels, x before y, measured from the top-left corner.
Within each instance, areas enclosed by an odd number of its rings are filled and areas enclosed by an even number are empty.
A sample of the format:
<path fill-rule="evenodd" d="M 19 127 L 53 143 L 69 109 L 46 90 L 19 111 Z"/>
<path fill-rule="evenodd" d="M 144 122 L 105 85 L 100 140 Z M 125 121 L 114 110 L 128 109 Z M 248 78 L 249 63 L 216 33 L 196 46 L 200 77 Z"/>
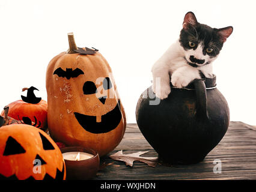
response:
<path fill-rule="evenodd" d="M 96 49 L 76 47 L 55 56 L 47 67 L 50 136 L 68 146 L 108 154 L 121 141 L 126 116 L 108 62 Z"/>

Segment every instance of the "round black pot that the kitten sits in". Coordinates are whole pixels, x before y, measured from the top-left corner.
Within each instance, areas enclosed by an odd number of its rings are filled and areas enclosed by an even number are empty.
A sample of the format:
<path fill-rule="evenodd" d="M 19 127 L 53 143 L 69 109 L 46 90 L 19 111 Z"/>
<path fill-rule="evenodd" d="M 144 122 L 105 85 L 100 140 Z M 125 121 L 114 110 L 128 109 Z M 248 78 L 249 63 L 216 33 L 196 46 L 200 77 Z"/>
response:
<path fill-rule="evenodd" d="M 138 100 L 136 121 L 162 161 L 192 164 L 204 160 L 224 137 L 230 110 L 213 76 L 186 88 L 172 87 L 164 100 L 150 86 Z"/>

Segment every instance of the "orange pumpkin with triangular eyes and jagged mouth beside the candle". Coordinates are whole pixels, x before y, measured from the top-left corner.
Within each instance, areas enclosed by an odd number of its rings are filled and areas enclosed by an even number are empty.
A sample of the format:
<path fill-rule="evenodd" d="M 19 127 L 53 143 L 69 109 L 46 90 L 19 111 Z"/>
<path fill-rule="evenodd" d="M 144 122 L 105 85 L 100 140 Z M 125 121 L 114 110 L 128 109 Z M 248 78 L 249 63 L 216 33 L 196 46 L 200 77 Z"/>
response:
<path fill-rule="evenodd" d="M 6 125 L 0 138 L 0 179 L 66 179 L 61 151 L 44 131 Z"/>

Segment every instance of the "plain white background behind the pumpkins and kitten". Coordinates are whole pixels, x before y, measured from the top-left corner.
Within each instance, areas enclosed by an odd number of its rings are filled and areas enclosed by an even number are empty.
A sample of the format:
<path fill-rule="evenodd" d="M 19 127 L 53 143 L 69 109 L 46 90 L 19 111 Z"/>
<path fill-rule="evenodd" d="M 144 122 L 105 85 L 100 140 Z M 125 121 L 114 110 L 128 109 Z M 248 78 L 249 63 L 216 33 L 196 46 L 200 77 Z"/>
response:
<path fill-rule="evenodd" d="M 234 32 L 214 62 L 218 89 L 231 121 L 256 125 L 255 1 L 3 1 L 0 0 L 0 107 L 35 86 L 47 100 L 46 67 L 68 49 L 67 33 L 80 47 L 96 47 L 108 60 L 127 121 L 136 122 L 139 95 L 151 85 L 151 67 L 177 40 L 184 14 Z M 24 95 L 24 94 L 23 94 Z"/>

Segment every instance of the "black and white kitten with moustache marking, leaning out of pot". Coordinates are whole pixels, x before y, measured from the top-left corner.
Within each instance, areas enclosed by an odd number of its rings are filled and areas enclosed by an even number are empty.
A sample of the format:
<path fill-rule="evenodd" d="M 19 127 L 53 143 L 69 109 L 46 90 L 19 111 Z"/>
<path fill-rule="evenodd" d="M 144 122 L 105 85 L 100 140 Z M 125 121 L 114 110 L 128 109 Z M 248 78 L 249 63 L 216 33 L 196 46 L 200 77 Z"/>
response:
<path fill-rule="evenodd" d="M 195 14 L 184 17 L 180 38 L 172 44 L 152 67 L 153 91 L 160 99 L 167 98 L 171 83 L 177 88 L 194 79 L 212 76 L 212 62 L 218 57 L 233 27 L 216 29 L 197 22 Z M 156 85 L 160 77 L 160 86 Z"/>

